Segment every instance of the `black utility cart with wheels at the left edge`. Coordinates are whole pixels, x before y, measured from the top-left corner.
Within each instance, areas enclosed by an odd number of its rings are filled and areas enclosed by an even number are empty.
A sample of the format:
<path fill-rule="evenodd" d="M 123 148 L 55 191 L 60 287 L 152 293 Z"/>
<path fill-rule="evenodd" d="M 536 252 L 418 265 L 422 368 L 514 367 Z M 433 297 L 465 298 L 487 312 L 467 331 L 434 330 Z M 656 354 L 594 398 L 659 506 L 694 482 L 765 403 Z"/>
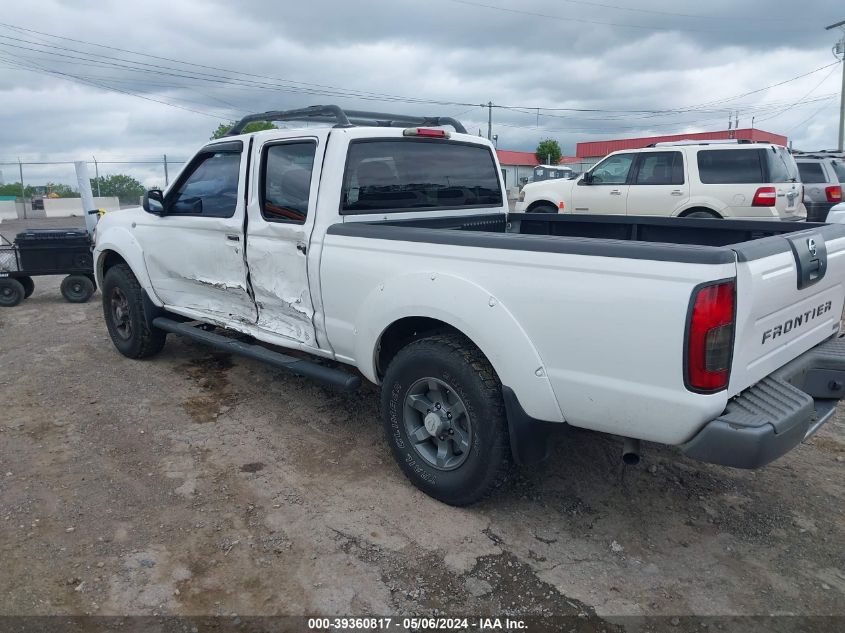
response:
<path fill-rule="evenodd" d="M 91 239 L 85 229 L 27 229 L 10 242 L 0 236 L 0 307 L 18 305 L 35 290 L 33 277 L 67 275 L 62 295 L 84 303 L 96 290 Z"/>

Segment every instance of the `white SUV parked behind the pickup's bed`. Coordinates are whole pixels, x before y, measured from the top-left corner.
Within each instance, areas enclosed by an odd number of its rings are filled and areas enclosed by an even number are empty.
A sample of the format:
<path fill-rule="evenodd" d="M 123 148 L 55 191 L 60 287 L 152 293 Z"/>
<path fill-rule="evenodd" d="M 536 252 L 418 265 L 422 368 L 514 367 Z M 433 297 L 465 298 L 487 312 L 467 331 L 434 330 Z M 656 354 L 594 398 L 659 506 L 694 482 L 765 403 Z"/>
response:
<path fill-rule="evenodd" d="M 804 220 L 802 190 L 784 147 L 682 141 L 614 152 L 576 180 L 525 185 L 516 211 Z"/>

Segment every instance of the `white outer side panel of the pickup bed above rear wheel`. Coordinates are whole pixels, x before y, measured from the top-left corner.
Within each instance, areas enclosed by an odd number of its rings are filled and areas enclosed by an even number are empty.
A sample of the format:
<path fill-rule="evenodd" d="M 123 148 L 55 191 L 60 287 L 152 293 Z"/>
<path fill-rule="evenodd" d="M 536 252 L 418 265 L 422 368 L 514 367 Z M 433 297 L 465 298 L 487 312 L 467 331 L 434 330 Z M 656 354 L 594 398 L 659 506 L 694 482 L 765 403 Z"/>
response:
<path fill-rule="evenodd" d="M 371 379 L 380 333 L 429 316 L 469 336 L 539 419 L 678 444 L 727 401 L 686 390 L 683 340 L 693 288 L 733 263 L 329 234 L 321 274 L 329 339 Z"/>

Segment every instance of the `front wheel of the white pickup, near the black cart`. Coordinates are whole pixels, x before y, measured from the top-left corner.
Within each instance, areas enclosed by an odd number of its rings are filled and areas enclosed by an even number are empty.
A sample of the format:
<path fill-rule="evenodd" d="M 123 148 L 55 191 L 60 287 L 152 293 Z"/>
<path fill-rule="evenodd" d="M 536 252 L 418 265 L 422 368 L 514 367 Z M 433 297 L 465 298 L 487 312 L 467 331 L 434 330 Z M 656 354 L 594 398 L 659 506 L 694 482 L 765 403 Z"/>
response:
<path fill-rule="evenodd" d="M 164 347 L 167 333 L 144 312 L 144 289 L 126 264 L 112 266 L 103 280 L 103 316 L 112 343 L 127 358 L 148 358 Z"/>

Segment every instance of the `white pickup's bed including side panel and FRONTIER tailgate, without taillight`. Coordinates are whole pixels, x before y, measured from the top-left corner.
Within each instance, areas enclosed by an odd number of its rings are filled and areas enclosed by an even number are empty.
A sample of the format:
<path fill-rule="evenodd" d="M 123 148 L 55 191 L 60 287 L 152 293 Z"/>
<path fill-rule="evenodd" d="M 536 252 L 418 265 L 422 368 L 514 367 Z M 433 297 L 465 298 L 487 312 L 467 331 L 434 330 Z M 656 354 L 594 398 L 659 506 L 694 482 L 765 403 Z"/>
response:
<path fill-rule="evenodd" d="M 826 274 L 802 283 L 815 248 Z M 382 216 L 329 226 L 324 249 L 325 310 L 340 315 L 327 322 L 335 349 L 363 358 L 387 326 L 374 314 L 413 316 L 420 296 L 436 297 L 441 320 L 454 324 L 459 312 L 456 327 L 482 351 L 502 340 L 509 350 L 538 350 L 518 362 L 492 356 L 503 384 L 526 394 L 520 404 L 532 417 L 668 444 L 689 440 L 729 398 L 832 336 L 845 295 L 839 224 Z M 723 280 L 736 284 L 730 384 L 696 393 L 684 382 L 690 301 Z M 350 313 L 353 302 L 366 308 Z M 548 377 L 556 415 L 535 370 Z"/>

